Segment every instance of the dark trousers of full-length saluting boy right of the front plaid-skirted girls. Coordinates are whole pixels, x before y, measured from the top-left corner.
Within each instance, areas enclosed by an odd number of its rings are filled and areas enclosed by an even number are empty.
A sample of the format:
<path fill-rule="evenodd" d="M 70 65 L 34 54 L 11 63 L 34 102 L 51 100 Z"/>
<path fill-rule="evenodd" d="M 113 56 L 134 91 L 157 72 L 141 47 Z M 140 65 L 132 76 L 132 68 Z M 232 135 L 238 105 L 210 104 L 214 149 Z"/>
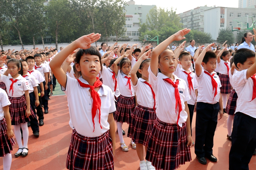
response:
<path fill-rule="evenodd" d="M 219 102 L 196 104 L 195 154 L 199 158 L 212 155 L 213 137 L 218 122 Z"/>

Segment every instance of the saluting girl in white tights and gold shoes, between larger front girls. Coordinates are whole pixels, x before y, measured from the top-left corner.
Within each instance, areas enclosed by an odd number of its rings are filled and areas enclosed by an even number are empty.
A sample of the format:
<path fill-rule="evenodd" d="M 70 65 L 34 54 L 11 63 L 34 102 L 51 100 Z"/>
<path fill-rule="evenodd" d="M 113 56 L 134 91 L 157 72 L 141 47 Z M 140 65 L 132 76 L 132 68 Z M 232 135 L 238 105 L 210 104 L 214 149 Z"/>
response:
<path fill-rule="evenodd" d="M 122 125 L 123 122 L 129 124 L 127 137 L 132 137 L 132 112 L 135 108 L 135 94 L 131 85 L 131 76 L 130 71 L 132 64 L 128 58 L 130 50 L 127 50 L 124 55 L 117 58 L 114 62 L 114 70 L 116 73 L 116 79 L 119 85 L 119 90 L 121 95 L 117 100 L 116 113 L 114 119 L 117 122 L 118 136 L 120 139 L 120 145 L 123 151 L 128 151 L 128 146 L 124 143 Z M 119 68 L 118 70 L 118 63 Z M 130 144 L 133 149 L 136 149 L 136 144 L 131 140 Z"/>

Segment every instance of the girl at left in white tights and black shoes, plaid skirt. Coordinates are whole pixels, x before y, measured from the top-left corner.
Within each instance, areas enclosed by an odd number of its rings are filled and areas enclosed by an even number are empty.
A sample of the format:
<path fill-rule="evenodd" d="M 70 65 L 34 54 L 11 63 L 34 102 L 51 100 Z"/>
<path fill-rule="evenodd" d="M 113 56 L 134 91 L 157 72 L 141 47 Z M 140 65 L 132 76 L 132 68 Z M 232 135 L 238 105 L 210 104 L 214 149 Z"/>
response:
<path fill-rule="evenodd" d="M 14 133 L 19 145 L 15 157 L 25 157 L 28 155 L 28 125 L 27 122 L 35 118 L 34 112 L 30 107 L 28 80 L 23 78 L 23 69 L 20 60 L 10 59 L 7 63 L 6 74 L 1 75 L 0 82 L 4 82 L 7 89 L 9 100 L 12 103 L 10 108 L 12 125 L 14 125 Z M 25 95 L 24 95 L 25 94 Z M 20 128 L 23 132 L 23 144 L 21 140 Z"/>

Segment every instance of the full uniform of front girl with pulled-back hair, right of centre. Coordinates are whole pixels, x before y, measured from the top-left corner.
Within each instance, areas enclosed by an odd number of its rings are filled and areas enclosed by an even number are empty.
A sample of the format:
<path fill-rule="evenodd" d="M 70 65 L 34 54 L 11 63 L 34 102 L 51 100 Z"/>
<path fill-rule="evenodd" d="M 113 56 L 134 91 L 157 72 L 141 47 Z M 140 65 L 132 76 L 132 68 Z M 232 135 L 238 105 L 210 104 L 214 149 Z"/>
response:
<path fill-rule="evenodd" d="M 172 79 L 162 73 L 157 73 L 155 76 L 150 66 L 148 72 L 158 106 L 157 118 L 148 142 L 146 160 L 152 162 L 156 169 L 177 169 L 179 165 L 191 161 L 190 148 L 187 147 L 188 114 L 184 103 L 190 100 L 188 88 L 186 82 L 175 75 L 172 82 Z M 177 108 L 176 100 L 179 103 Z"/>

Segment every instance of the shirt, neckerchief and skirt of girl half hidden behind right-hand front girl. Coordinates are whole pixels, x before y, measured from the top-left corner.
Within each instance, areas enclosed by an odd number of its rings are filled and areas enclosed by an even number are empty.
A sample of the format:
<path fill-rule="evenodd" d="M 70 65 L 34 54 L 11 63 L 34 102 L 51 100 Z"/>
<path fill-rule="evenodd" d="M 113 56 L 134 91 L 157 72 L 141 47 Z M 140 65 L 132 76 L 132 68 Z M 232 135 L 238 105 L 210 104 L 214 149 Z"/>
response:
<path fill-rule="evenodd" d="M 139 78 L 137 85 L 132 85 L 138 105 L 132 115 L 133 134 L 132 141 L 135 144 L 148 145 L 150 133 L 156 120 L 156 95 L 152 86 L 144 79 Z"/>

